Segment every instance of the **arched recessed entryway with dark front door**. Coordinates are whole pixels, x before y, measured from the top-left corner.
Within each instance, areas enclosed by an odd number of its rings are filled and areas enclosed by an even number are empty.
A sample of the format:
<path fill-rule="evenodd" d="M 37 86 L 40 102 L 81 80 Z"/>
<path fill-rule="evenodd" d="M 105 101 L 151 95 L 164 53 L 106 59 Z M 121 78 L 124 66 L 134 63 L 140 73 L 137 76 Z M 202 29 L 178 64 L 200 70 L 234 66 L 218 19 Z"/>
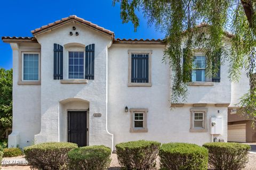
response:
<path fill-rule="evenodd" d="M 89 104 L 79 98 L 60 101 L 60 141 L 77 143 L 79 147 L 88 145 Z"/>

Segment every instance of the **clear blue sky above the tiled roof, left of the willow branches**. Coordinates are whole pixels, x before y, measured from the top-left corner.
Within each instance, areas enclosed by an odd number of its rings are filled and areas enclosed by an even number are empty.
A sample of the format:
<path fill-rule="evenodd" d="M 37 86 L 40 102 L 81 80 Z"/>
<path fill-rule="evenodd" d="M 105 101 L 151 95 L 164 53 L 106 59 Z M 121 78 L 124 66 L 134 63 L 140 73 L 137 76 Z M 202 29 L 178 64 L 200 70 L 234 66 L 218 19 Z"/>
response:
<path fill-rule="evenodd" d="M 164 35 L 148 27 L 143 14 L 139 14 L 140 26 L 133 31 L 132 23 L 122 24 L 120 6 L 111 0 L 1 0 L 0 36 L 28 36 L 31 30 L 60 20 L 69 15 L 77 15 L 92 23 L 115 32 L 116 38 L 164 38 Z M 12 50 L 9 44 L 0 41 L 0 67 L 12 67 Z"/>

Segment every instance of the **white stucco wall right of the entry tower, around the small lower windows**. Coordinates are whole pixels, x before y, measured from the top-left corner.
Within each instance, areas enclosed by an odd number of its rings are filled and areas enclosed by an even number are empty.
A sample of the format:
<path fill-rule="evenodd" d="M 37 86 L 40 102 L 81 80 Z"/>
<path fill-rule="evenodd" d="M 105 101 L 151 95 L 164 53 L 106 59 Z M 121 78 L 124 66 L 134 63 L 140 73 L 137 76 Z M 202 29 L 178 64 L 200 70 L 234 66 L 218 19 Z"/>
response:
<path fill-rule="evenodd" d="M 152 87 L 127 87 L 128 83 L 128 50 L 153 50 L 152 53 Z M 113 45 L 109 49 L 109 87 L 108 87 L 108 112 L 109 130 L 114 134 L 114 145 L 119 142 L 146 139 L 166 142 L 189 142 L 203 145 L 211 141 L 210 117 L 222 117 L 222 134 L 214 135 L 227 141 L 227 107 L 215 107 L 207 105 L 207 132 L 190 132 L 190 108 L 186 104 L 183 107 L 170 108 L 170 69 L 169 65 L 162 63 L 163 46 L 134 46 L 134 45 Z M 223 82 L 225 83 L 225 81 Z M 214 84 L 215 86 L 215 84 Z M 213 90 L 222 89 L 216 85 Z M 189 101 L 191 103 L 213 103 L 223 101 L 221 96 L 214 95 L 212 100 L 203 98 L 209 96 L 209 87 L 193 87 L 190 89 Z M 223 88 L 224 89 L 224 88 Z M 222 90 L 223 91 L 223 90 Z M 221 92 L 221 91 L 220 91 Z M 199 93 L 199 94 L 196 94 Z M 219 94 L 219 91 L 215 91 Z M 227 92 L 226 94 L 230 94 Z M 197 96 L 203 99 L 199 99 Z M 217 97 L 218 96 L 218 97 Z M 226 100 L 230 97 L 227 96 Z M 225 101 L 226 101 L 225 100 Z M 129 108 L 148 108 L 147 128 L 148 132 L 130 132 L 130 112 L 125 112 L 125 106 Z M 218 113 L 219 110 L 219 113 Z"/>

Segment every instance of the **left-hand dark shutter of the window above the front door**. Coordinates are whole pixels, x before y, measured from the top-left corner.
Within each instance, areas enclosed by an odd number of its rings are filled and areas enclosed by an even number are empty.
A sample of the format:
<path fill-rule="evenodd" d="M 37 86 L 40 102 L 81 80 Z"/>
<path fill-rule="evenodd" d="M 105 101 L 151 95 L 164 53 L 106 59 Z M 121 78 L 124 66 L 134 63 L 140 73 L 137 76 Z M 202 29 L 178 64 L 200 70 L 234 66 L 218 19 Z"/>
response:
<path fill-rule="evenodd" d="M 59 44 L 53 45 L 54 62 L 53 62 L 53 79 L 63 79 L 63 47 Z"/>

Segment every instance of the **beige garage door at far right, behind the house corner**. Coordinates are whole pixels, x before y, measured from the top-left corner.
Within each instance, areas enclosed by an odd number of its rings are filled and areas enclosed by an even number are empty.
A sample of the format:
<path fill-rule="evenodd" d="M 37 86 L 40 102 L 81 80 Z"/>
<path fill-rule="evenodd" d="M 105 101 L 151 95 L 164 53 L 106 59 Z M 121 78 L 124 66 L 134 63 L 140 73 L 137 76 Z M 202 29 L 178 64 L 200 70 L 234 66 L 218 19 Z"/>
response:
<path fill-rule="evenodd" d="M 229 142 L 246 142 L 245 124 L 228 125 Z"/>

